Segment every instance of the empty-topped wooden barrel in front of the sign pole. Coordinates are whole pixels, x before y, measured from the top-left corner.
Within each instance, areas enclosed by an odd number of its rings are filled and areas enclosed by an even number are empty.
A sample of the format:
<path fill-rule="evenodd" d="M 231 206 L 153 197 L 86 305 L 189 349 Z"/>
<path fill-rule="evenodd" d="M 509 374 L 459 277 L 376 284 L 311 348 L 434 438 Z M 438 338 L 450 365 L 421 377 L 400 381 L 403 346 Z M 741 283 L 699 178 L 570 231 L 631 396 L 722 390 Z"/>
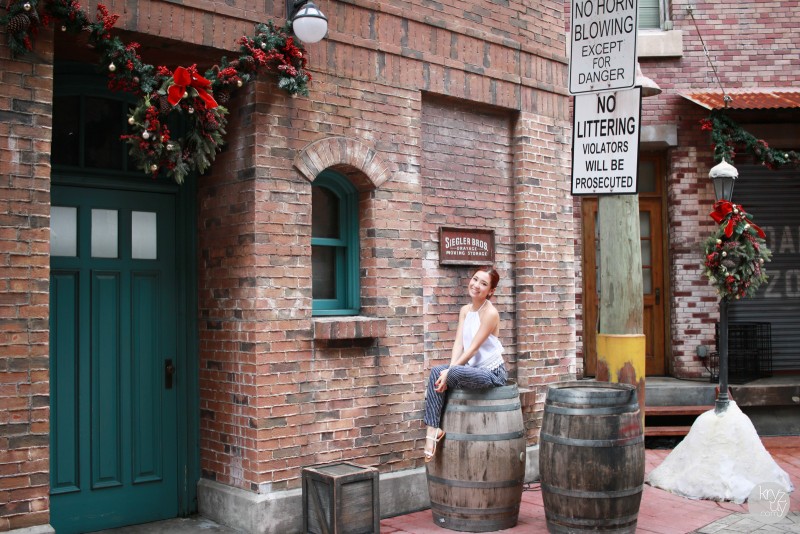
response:
<path fill-rule="evenodd" d="M 644 436 L 636 388 L 551 386 L 539 439 L 550 532 L 635 532 L 644 485 Z"/>

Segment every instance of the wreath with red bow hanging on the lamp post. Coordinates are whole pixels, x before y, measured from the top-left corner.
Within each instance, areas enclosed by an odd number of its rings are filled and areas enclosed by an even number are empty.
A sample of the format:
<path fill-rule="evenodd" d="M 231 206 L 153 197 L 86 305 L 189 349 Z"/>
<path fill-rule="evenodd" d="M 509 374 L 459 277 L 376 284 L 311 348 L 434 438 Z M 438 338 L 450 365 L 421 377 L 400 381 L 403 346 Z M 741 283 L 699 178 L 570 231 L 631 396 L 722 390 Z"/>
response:
<path fill-rule="evenodd" d="M 767 281 L 764 263 L 772 256 L 764 231 L 727 200 L 714 204 L 711 217 L 719 226 L 705 242 L 703 274 L 723 298 L 752 296 Z"/>

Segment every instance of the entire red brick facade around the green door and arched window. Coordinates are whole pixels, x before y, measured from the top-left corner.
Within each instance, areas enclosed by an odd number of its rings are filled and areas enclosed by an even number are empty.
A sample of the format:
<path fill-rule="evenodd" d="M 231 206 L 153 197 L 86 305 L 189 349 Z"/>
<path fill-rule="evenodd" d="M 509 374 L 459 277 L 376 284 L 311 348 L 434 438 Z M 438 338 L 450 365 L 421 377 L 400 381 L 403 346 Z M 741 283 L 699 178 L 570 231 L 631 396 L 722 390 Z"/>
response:
<path fill-rule="evenodd" d="M 253 20 L 284 15 L 281 2 L 267 3 L 271 15 L 255 1 L 108 7 L 121 28 L 181 42 L 182 57 L 192 45 L 231 49 Z M 533 387 L 530 443 L 543 388 L 568 378 L 574 357 L 561 2 L 320 7 L 331 28 L 308 47 L 311 96 L 288 98 L 269 78 L 248 86 L 198 184 L 202 476 L 258 493 L 296 488 L 302 467 L 333 460 L 384 472 L 422 465 L 423 384 L 429 364 L 447 357 L 468 274 L 438 267 L 440 220 L 496 230 L 502 336 L 520 385 Z M 0 324 L 17 347 L 0 357 L 0 397 L 12 407 L 0 417 L 17 418 L 0 419 L 0 502 L 19 511 L 0 516 L 0 529 L 48 521 L 52 47 L 44 35 L 21 61 L 0 48 L 0 109 L 12 110 L 0 123 Z M 454 121 L 444 138 L 440 120 Z M 347 148 L 322 156 L 360 191 L 362 315 L 385 319 L 378 338 L 313 337 L 314 176 L 292 165 L 332 137 Z M 463 172 L 435 167 L 461 148 Z M 382 163 L 365 164 L 367 153 Z M 465 179 L 452 210 L 439 188 Z"/>

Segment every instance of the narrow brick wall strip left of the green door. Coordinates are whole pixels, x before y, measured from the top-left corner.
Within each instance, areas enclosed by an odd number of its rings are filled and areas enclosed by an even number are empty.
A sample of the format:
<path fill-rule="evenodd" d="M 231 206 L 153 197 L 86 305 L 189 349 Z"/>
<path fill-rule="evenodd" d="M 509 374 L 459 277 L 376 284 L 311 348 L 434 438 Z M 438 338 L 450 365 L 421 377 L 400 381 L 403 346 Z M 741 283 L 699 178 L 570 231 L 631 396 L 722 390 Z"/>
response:
<path fill-rule="evenodd" d="M 0 28 L 0 531 L 47 523 L 52 41 L 11 58 Z"/>

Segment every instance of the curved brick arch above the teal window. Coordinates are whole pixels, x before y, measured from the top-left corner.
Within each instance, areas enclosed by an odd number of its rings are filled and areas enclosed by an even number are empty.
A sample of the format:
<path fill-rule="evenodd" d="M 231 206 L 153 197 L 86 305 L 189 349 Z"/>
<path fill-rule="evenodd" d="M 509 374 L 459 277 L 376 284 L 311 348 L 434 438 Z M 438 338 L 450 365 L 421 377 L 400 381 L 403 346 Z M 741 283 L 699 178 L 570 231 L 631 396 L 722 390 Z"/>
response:
<path fill-rule="evenodd" d="M 389 165 L 375 149 L 344 136 L 314 141 L 297 154 L 293 165 L 309 182 L 325 169 L 338 170 L 359 190 L 377 189 L 390 176 Z"/>

